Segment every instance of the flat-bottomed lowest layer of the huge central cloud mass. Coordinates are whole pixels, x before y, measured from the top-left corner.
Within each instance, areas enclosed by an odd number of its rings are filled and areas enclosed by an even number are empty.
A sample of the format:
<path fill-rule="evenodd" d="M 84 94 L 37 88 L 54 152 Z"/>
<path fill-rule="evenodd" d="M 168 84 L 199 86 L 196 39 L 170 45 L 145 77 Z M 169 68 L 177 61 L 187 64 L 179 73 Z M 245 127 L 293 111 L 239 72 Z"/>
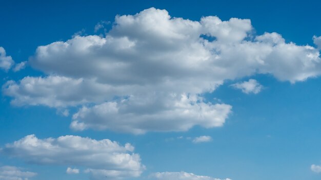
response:
<path fill-rule="evenodd" d="M 206 128 L 222 126 L 231 111 L 230 105 L 197 102 L 196 97 L 187 95 L 147 97 L 131 96 L 118 102 L 83 107 L 73 115 L 71 128 L 132 133 L 186 131 L 195 125 Z"/>

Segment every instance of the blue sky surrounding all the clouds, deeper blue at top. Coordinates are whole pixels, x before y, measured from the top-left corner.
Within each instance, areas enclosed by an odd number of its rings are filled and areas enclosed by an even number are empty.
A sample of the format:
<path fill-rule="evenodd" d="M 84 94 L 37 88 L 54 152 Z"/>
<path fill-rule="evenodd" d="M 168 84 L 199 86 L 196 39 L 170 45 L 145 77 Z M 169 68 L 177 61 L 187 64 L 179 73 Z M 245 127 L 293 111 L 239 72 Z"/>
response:
<path fill-rule="evenodd" d="M 66 41 L 78 31 L 92 35 L 102 20 L 115 15 L 136 14 L 155 7 L 172 17 L 199 20 L 216 15 L 251 19 L 257 35 L 277 32 L 286 42 L 315 47 L 312 37 L 321 36 L 319 1 L 1 1 L 0 47 L 16 63 L 26 61 L 38 46 Z M 111 25 L 108 25 L 111 28 Z M 27 66 L 19 72 L 0 71 L 0 83 L 26 76 L 46 76 Z M 244 94 L 230 84 L 256 79 L 264 86 L 258 94 Z M 0 102 L 0 147 L 28 134 L 39 139 L 67 134 L 92 139 L 110 139 L 135 146 L 147 169 L 153 172 L 191 172 L 233 180 L 320 179 L 312 164 L 321 161 L 321 79 L 309 78 L 291 84 L 271 75 L 254 75 L 227 80 L 204 97 L 218 98 L 233 106 L 222 127 L 193 127 L 183 132 L 148 132 L 141 135 L 110 130 L 73 131 L 71 117 L 57 114 L 56 108 L 42 105 L 17 107 L 2 95 Z M 79 107 L 79 106 L 77 106 Z M 71 115 L 77 107 L 70 107 Z M 184 139 L 177 139 L 183 136 Z M 211 136 L 209 143 L 191 143 L 187 137 Z M 87 179 L 88 175 L 68 175 L 65 165 L 35 165 L 0 154 L 0 166 L 17 166 L 38 175 L 30 179 Z M 82 169 L 82 167 L 80 167 Z M 83 168 L 84 169 L 84 168 Z"/>

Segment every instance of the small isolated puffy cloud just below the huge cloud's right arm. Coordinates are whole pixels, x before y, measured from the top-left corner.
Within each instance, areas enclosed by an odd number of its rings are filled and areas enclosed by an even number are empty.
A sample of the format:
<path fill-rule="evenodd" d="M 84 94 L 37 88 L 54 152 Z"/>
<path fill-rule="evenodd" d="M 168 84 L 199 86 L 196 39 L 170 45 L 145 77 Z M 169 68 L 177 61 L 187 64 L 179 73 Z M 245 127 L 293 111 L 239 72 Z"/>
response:
<path fill-rule="evenodd" d="M 231 86 L 237 89 L 241 89 L 242 92 L 245 94 L 257 94 L 263 88 L 263 85 L 259 84 L 255 79 L 249 79 L 249 81 L 238 82 L 232 84 Z"/>

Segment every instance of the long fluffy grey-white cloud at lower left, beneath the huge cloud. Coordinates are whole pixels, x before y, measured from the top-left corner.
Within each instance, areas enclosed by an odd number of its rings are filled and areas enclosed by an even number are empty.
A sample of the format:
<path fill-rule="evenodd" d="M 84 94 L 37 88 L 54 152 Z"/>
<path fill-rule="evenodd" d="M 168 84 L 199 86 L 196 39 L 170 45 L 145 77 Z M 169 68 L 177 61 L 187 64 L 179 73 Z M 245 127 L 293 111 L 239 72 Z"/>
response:
<path fill-rule="evenodd" d="M 134 147 L 128 143 L 121 146 L 108 139 L 97 141 L 78 136 L 38 139 L 34 135 L 7 144 L 2 149 L 5 154 L 28 163 L 118 171 L 119 174 L 105 174 L 111 179 L 137 177 L 142 173 L 145 167 L 141 164 L 139 154 L 133 153 L 133 150 Z"/>

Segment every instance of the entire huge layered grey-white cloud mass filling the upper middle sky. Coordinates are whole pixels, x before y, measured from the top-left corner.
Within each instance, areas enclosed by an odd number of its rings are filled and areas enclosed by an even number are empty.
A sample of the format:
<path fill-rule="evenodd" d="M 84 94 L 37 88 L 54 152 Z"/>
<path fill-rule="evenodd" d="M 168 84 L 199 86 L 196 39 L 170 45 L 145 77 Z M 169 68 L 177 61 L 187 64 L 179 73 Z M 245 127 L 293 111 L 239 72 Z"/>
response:
<path fill-rule="evenodd" d="M 76 130 L 222 126 L 232 106 L 205 103 L 201 94 L 225 80 L 272 74 L 294 83 L 321 73 L 318 49 L 252 30 L 249 19 L 192 21 L 155 8 L 118 15 L 105 37 L 74 36 L 38 47 L 28 63 L 47 76 L 8 81 L 3 92 L 14 105 L 83 105 L 70 125 Z"/>

